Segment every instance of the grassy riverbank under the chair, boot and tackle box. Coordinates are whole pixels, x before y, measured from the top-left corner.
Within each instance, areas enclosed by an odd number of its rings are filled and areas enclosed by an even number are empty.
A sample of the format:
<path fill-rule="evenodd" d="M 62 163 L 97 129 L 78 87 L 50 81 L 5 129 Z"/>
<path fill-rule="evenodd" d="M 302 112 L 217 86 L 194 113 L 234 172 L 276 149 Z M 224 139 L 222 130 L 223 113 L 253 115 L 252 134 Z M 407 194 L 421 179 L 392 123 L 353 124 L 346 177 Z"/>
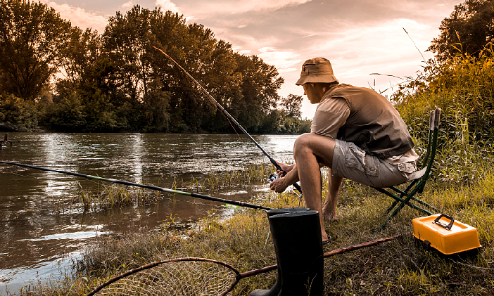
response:
<path fill-rule="evenodd" d="M 494 293 L 494 174 L 469 186 L 431 182 L 426 202 L 479 231 L 481 249 L 462 257 L 444 257 L 417 247 L 405 208 L 376 233 L 391 199 L 372 188 L 345 181 L 338 202 L 339 221 L 325 224 L 333 238 L 324 252 L 378 238 L 404 234 L 388 243 L 324 259 L 324 295 L 492 295 Z M 297 207 L 296 195 L 265 193 L 253 202 L 267 207 Z M 239 209 L 227 220 L 214 212 L 194 228 L 177 229 L 167 221 L 151 231 L 101 237 L 74 262 L 74 274 L 50 285 L 30 285 L 22 295 L 82 295 L 129 269 L 162 259 L 204 257 L 232 264 L 240 271 L 276 264 L 269 225 L 260 210 Z M 232 295 L 270 288 L 277 273 L 244 278 Z"/>

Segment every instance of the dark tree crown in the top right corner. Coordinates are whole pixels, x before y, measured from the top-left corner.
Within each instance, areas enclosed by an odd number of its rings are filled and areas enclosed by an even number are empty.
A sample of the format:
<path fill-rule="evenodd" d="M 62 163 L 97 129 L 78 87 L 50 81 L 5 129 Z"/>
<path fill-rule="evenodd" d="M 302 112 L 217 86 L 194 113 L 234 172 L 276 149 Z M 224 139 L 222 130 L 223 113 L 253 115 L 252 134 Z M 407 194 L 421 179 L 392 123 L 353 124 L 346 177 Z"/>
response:
<path fill-rule="evenodd" d="M 479 56 L 484 46 L 494 41 L 494 0 L 467 0 L 455 5 L 455 11 L 439 27 L 428 51 L 440 63 L 451 60 L 455 53 Z"/>

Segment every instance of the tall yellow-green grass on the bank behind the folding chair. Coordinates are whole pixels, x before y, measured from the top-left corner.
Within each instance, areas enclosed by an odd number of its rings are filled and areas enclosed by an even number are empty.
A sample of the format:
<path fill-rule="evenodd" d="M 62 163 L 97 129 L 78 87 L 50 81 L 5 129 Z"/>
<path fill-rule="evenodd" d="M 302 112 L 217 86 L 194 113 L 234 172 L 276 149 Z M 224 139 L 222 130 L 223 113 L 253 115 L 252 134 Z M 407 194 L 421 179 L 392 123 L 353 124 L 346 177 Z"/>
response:
<path fill-rule="evenodd" d="M 424 72 L 392 97 L 419 146 L 426 139 L 428 112 L 443 110 L 435 167 L 440 181 L 471 182 L 489 169 L 485 159 L 493 153 L 493 56 L 489 46 L 478 58 L 458 55 L 443 65 L 429 60 Z"/>

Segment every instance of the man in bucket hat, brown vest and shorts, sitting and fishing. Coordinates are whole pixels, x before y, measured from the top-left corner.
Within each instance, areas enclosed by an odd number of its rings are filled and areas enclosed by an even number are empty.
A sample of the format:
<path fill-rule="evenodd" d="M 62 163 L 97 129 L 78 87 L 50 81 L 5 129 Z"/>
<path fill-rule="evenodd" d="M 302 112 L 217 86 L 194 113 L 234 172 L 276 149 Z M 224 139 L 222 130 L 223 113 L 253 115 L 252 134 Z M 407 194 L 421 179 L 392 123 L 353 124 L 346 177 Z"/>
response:
<path fill-rule="evenodd" d="M 300 181 L 305 205 L 319 211 L 322 240 L 324 219 L 337 220 L 336 202 L 343 178 L 387 187 L 415 179 L 414 143 L 405 122 L 391 103 L 372 89 L 339 84 L 325 58 L 306 60 L 297 85 L 310 103 L 318 104 L 310 134 L 293 144 L 295 165 L 279 164 L 286 175 L 272 181 L 281 193 Z M 328 167 L 328 195 L 322 205 L 320 167 Z"/>

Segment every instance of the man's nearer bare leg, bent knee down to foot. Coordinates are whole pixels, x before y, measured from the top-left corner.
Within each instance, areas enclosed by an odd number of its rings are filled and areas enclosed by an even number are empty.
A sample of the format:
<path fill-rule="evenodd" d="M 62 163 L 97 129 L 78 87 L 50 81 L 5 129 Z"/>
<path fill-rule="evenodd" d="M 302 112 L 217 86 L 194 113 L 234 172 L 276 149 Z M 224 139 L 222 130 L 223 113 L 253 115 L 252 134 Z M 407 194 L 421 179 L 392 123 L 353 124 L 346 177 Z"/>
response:
<path fill-rule="evenodd" d="M 324 229 L 324 219 L 321 200 L 321 171 L 319 163 L 332 166 L 335 141 L 327 136 L 303 134 L 298 137 L 293 146 L 293 157 L 298 170 L 298 179 L 303 191 L 305 205 L 310 210 L 319 212 L 322 240 L 328 236 Z"/>

